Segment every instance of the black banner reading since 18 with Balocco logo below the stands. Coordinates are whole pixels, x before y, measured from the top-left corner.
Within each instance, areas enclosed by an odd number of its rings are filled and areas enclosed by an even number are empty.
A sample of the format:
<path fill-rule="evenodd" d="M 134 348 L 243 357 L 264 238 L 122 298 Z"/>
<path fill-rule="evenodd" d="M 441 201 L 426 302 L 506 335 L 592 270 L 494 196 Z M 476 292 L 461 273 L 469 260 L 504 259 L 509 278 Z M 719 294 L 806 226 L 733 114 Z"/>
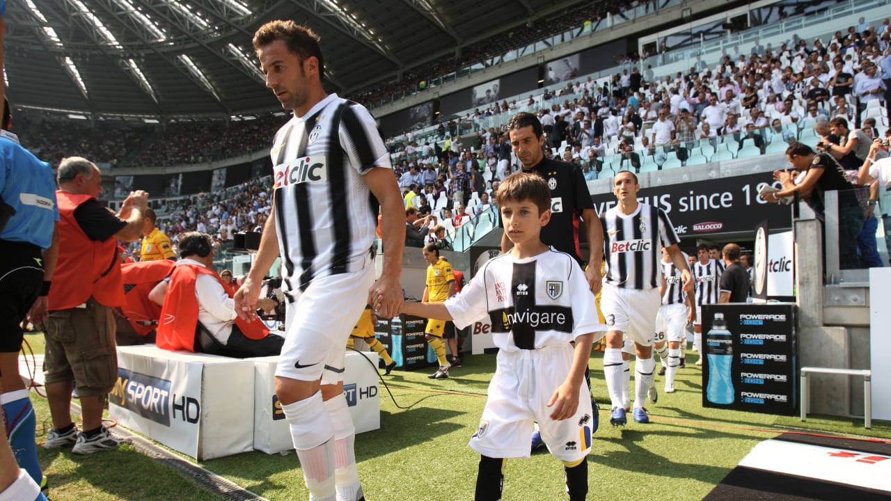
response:
<path fill-rule="evenodd" d="M 758 198 L 763 185 L 779 188 L 771 174 L 723 177 L 679 185 L 642 186 L 638 200 L 663 209 L 678 236 L 750 232 L 759 221 L 770 219 L 772 230 L 792 227 L 788 205 Z M 616 205 L 616 196 L 592 196 L 598 214 Z"/>

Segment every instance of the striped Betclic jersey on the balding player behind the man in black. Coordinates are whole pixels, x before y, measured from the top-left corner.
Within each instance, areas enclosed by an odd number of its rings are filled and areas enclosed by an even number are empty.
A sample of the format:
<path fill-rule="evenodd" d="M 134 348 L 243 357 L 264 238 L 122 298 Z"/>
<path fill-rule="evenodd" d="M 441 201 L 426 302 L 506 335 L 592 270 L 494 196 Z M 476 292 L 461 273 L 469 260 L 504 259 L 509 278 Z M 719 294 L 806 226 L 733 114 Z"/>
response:
<path fill-rule="evenodd" d="M 661 283 L 663 246 L 680 242 L 664 210 L 638 202 L 634 213 L 623 215 L 614 206 L 601 214 L 607 283 L 646 291 Z"/>

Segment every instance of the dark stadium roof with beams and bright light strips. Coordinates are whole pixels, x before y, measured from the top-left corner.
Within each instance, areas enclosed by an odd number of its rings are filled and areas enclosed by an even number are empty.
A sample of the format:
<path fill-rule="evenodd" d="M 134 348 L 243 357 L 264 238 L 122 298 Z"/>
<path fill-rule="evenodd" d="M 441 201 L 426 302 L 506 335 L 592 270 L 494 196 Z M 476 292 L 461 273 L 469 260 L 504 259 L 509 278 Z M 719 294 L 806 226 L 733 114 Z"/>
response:
<path fill-rule="evenodd" d="M 20 0 L 7 4 L 7 94 L 85 116 L 274 111 L 251 37 L 293 19 L 322 37 L 326 87 L 349 94 L 581 0 Z"/>

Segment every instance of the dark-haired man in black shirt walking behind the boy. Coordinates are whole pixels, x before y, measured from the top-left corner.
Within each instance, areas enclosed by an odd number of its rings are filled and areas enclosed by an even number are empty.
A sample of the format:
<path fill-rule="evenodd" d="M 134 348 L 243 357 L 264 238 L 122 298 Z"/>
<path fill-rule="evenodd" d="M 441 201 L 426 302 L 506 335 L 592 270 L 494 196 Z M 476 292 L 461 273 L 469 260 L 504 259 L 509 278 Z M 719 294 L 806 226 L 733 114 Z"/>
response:
<path fill-rule="evenodd" d="M 582 169 L 575 164 L 544 158 L 544 129 L 532 113 L 520 112 L 508 124 L 511 148 L 517 155 L 523 172 L 534 172 L 543 177 L 551 188 L 551 221 L 542 228 L 542 242 L 568 253 L 584 269 L 584 259 L 578 246 L 579 218 L 584 221 L 585 235 L 591 257 L 584 272 L 591 290 L 601 290 L 601 262 L 603 260 L 603 227 Z M 502 235 L 502 252 L 513 244 Z"/>

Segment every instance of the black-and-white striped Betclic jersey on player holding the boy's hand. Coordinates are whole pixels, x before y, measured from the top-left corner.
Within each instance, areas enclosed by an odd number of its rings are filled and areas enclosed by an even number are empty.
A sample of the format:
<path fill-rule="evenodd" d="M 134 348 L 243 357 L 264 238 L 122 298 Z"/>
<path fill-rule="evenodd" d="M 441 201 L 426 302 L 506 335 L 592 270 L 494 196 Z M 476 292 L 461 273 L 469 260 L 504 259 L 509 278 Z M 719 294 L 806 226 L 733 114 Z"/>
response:
<path fill-rule="evenodd" d="M 378 203 L 363 176 L 392 168 L 371 113 L 329 94 L 290 119 L 273 144 L 282 290 L 369 266 Z"/>

